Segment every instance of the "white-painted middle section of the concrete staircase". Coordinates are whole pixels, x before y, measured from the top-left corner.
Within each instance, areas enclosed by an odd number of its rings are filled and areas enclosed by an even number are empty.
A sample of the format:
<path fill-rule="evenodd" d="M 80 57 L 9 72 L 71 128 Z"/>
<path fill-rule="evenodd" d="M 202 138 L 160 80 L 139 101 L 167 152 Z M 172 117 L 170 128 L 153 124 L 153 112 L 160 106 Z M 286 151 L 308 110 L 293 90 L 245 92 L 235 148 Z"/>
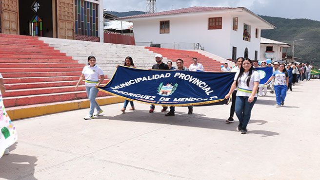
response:
<path fill-rule="evenodd" d="M 72 56 L 73 59 L 80 63 L 87 63 L 88 56 L 94 55 L 97 58 L 97 65 L 100 66 L 105 75 L 111 78 L 116 70 L 117 65 L 123 65 L 127 56 L 133 58 L 133 62 L 137 68 L 148 69 L 156 63 L 155 54 L 148 51 L 143 46 L 132 46 L 123 44 L 111 44 L 88 41 L 75 41 L 69 39 L 56 39 L 49 37 L 39 37 L 49 46 Z M 166 58 L 163 58 L 166 62 Z"/>

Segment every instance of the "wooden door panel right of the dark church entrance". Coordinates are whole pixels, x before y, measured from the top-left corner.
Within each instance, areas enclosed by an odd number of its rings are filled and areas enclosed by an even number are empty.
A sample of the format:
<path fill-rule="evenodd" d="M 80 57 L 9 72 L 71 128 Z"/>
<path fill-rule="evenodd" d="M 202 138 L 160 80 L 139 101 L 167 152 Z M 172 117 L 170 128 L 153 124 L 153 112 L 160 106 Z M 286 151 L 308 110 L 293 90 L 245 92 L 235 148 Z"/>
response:
<path fill-rule="evenodd" d="M 58 38 L 74 39 L 74 0 L 57 0 Z"/>

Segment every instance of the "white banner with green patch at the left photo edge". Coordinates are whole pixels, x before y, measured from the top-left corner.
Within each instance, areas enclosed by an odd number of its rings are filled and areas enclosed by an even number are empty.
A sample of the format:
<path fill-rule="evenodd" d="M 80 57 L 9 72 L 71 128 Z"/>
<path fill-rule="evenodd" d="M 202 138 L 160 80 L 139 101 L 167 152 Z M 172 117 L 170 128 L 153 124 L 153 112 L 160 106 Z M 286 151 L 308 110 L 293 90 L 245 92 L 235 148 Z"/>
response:
<path fill-rule="evenodd" d="M 11 120 L 3 106 L 2 94 L 0 93 L 0 158 L 3 152 L 10 145 L 17 141 L 17 129 L 11 123 Z"/>

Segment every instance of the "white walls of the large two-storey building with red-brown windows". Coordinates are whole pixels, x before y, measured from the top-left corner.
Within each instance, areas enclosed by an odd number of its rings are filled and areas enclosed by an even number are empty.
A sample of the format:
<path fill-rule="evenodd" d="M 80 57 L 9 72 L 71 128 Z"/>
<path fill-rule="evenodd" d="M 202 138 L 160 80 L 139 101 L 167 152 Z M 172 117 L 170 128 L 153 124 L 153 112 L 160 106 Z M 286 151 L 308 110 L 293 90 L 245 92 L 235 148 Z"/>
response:
<path fill-rule="evenodd" d="M 222 29 L 208 30 L 208 18 L 222 17 Z M 259 37 L 255 37 L 256 26 L 245 18 L 239 18 L 238 31 L 232 30 L 232 13 L 194 15 L 179 18 L 153 18 L 133 21 L 133 31 L 137 45 L 149 46 L 165 43 L 200 43 L 204 51 L 219 55 L 223 58 L 232 58 L 232 47 L 237 47 L 237 57 L 244 55 L 248 48 L 249 58 L 254 59 L 255 51 L 260 55 L 260 29 Z M 248 18 L 250 19 L 250 18 Z M 170 20 L 170 33 L 160 34 L 160 20 Z M 251 42 L 242 40 L 243 23 L 251 25 Z M 183 43 L 181 43 L 183 42 Z M 161 46 L 163 47 L 163 46 Z M 190 49 L 190 48 L 189 48 Z"/>

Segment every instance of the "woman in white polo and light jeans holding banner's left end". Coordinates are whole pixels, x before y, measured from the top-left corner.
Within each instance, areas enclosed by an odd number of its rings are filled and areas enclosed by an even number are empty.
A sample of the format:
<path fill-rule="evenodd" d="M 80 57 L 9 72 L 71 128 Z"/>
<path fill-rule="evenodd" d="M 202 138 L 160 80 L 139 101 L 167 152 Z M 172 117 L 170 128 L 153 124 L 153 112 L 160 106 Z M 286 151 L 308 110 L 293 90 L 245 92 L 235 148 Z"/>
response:
<path fill-rule="evenodd" d="M 96 87 L 100 86 L 104 79 L 104 75 L 102 69 L 96 65 L 96 61 L 97 60 L 95 56 L 90 55 L 88 57 L 88 66 L 85 66 L 83 68 L 80 79 L 75 87 L 75 90 L 77 90 L 79 84 L 83 80 L 85 80 L 85 90 L 87 91 L 87 96 L 90 100 L 90 111 L 89 114 L 84 117 L 84 120 L 93 119 L 93 112 L 95 108 L 97 109 L 97 113 L 95 114 L 95 116 L 99 116 L 103 112 L 103 110 L 100 108 L 96 101 L 96 97 L 99 92 L 99 90 Z"/>

